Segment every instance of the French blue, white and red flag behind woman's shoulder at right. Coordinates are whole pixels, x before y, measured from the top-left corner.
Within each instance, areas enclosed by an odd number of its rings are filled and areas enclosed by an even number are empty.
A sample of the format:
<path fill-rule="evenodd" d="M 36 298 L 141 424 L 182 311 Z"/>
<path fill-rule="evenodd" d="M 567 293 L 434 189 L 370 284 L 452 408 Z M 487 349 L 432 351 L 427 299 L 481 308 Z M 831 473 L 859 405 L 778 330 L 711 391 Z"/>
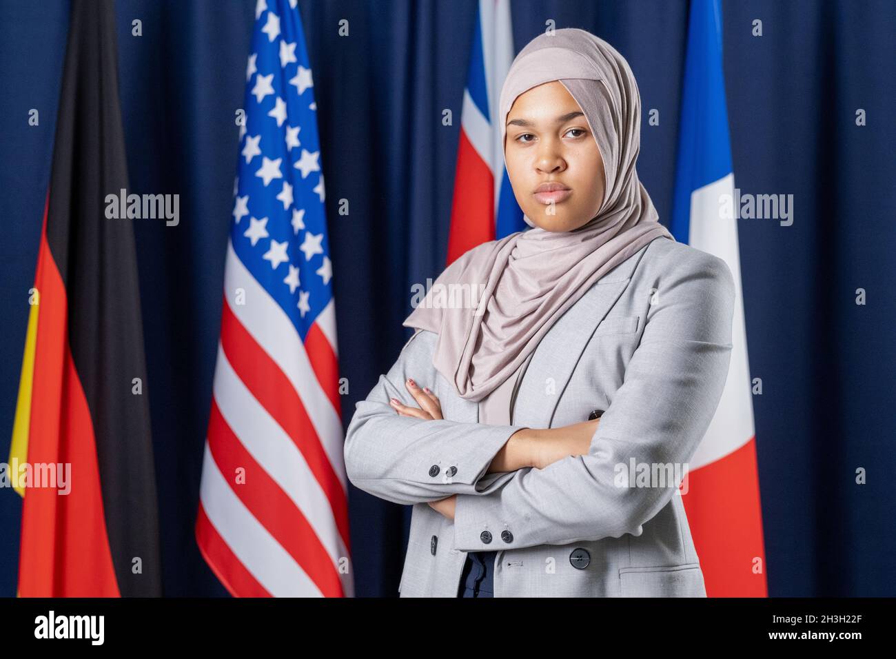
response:
<path fill-rule="evenodd" d="M 725 260 L 737 301 L 719 408 L 690 464 L 685 510 L 710 597 L 765 597 L 762 508 L 737 247 L 719 0 L 692 0 L 672 233 Z"/>

